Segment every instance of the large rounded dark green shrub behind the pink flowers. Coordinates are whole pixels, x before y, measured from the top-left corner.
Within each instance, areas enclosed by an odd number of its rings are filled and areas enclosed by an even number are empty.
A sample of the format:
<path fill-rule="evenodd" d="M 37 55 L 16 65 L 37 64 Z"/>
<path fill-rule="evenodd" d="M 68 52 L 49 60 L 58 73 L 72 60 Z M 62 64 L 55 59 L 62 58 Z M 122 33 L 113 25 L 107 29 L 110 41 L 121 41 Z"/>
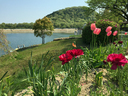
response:
<path fill-rule="evenodd" d="M 97 28 L 101 28 L 101 32 L 97 36 L 95 34 L 93 34 L 93 31 L 90 28 L 92 23 L 95 23 Z M 107 32 L 105 31 L 108 26 L 112 27 L 112 30 L 111 30 L 112 34 L 110 36 L 107 36 L 106 35 Z M 118 31 L 116 36 L 113 36 L 114 31 Z M 100 19 L 95 22 L 87 23 L 87 25 L 83 28 L 83 31 L 82 31 L 82 40 L 86 44 L 90 44 L 92 42 L 93 36 L 95 36 L 97 44 L 101 43 L 102 45 L 105 45 L 105 44 L 110 43 L 110 41 L 113 42 L 115 38 L 118 38 L 119 32 L 120 32 L 119 24 L 117 24 L 116 22 L 113 22 L 113 21 Z"/>

